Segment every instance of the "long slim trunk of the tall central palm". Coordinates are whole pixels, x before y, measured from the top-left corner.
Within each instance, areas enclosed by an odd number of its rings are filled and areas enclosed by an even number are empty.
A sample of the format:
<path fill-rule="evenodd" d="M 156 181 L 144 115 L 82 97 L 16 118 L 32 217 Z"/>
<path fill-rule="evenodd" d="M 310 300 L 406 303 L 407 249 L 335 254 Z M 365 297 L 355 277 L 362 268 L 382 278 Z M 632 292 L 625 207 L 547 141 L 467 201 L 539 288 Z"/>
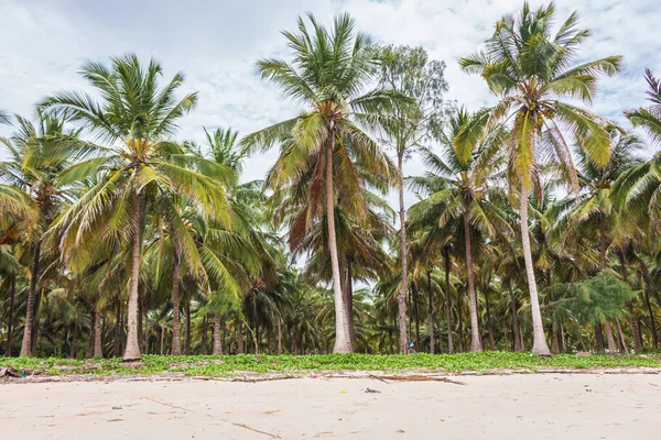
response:
<path fill-rule="evenodd" d="M 337 239 L 335 235 L 335 199 L 333 190 L 333 152 L 335 150 L 335 130 L 330 123 L 328 130 L 328 145 L 326 146 L 326 219 L 328 222 L 328 250 L 330 251 L 330 265 L 333 266 L 333 294 L 335 296 L 335 346 L 334 353 L 350 353 L 351 337 L 347 322 L 344 297 L 342 295 L 342 278 L 339 274 L 339 258 L 337 256 Z"/>

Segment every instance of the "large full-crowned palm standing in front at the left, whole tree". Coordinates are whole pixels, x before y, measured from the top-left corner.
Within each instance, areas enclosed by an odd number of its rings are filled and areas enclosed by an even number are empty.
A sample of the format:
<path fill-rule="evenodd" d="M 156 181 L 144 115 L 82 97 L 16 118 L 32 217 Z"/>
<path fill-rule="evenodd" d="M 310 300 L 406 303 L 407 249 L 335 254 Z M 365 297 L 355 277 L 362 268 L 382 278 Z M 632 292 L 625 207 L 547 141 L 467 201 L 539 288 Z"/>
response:
<path fill-rule="evenodd" d="M 106 142 L 90 145 L 96 157 L 69 167 L 61 184 L 100 175 L 99 183 L 74 202 L 61 217 L 65 257 L 84 256 L 85 238 L 131 246 L 128 336 L 123 359 L 140 359 L 138 344 L 138 286 L 144 216 L 156 194 L 174 193 L 206 215 L 229 221 L 224 184 L 236 179 L 226 167 L 199 156 L 183 154 L 171 142 L 176 122 L 197 100 L 196 94 L 175 97 L 184 80 L 178 73 L 163 87 L 162 67 L 155 61 L 144 66 L 136 55 L 111 58 L 108 67 L 86 63 L 85 78 L 100 96 L 97 101 L 84 91 L 65 91 L 46 98 L 40 107 L 55 114 L 68 114 Z M 202 264 L 187 232 L 178 231 L 182 257 L 199 273 Z"/>

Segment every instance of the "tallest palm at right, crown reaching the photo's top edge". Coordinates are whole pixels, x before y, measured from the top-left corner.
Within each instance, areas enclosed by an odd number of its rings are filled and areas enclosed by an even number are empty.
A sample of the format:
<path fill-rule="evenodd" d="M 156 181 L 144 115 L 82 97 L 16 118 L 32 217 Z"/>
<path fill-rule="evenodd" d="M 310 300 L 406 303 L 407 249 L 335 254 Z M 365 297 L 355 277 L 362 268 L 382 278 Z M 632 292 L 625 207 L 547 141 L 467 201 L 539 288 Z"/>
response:
<path fill-rule="evenodd" d="M 581 139 L 581 146 L 596 164 L 608 161 L 610 136 L 604 128 L 607 121 L 562 99 L 579 98 L 589 103 L 598 75 L 614 75 L 621 61 L 619 56 L 608 56 L 571 66 L 578 45 L 589 31 L 576 29 L 577 14 L 574 12 L 553 34 L 554 16 L 553 3 L 534 11 L 524 3 L 518 18 L 508 15 L 496 23 L 485 51 L 459 62 L 466 72 L 480 74 L 489 90 L 500 98 L 495 107 L 483 112 L 479 123 L 464 131 L 462 138 L 478 136 L 485 125 L 499 121 L 507 121 L 511 128 L 507 143 L 508 177 L 510 188 L 519 190 L 534 332 L 532 351 L 543 355 L 550 351 L 544 339 L 528 226 L 528 198 L 537 180 L 537 161 L 543 155 L 554 157 L 565 178 L 577 188 L 576 172 L 563 131 Z"/>

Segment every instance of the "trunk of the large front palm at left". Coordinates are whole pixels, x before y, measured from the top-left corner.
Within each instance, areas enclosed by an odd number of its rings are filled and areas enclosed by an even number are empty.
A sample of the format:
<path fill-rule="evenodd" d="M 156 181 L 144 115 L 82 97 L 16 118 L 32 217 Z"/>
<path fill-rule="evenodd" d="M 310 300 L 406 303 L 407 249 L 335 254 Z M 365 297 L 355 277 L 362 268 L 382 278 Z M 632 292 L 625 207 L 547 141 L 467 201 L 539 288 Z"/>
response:
<path fill-rule="evenodd" d="M 123 354 L 124 361 L 137 361 L 141 358 L 138 344 L 138 284 L 140 282 L 140 253 L 142 249 L 142 196 L 136 191 L 133 199 L 133 212 L 131 218 L 131 280 L 129 283 L 129 310 L 127 346 Z"/>

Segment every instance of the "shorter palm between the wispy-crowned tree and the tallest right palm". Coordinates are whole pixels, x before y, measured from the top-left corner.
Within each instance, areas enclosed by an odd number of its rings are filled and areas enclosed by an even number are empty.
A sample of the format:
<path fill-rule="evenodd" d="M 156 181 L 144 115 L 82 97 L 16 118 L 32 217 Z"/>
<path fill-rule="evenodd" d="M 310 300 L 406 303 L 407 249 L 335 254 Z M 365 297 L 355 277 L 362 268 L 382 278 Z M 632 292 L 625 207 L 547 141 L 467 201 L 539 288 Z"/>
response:
<path fill-rule="evenodd" d="M 457 136 L 474 118 L 464 109 L 449 117 L 448 130 L 442 136 L 441 155 L 423 150 L 424 162 L 431 170 L 424 176 L 411 178 L 410 184 L 416 189 L 430 191 L 426 199 L 411 208 L 413 221 L 426 218 L 437 222 L 440 229 L 453 224 L 454 234 L 464 238 L 470 351 L 481 351 L 474 275 L 475 249 L 480 245 L 479 237 L 494 238 L 499 230 L 509 226 L 488 197 L 488 193 L 494 193 L 496 188 L 489 188 L 489 178 L 499 163 L 497 153 L 502 132 L 494 130 L 478 144 L 457 142 Z"/>

